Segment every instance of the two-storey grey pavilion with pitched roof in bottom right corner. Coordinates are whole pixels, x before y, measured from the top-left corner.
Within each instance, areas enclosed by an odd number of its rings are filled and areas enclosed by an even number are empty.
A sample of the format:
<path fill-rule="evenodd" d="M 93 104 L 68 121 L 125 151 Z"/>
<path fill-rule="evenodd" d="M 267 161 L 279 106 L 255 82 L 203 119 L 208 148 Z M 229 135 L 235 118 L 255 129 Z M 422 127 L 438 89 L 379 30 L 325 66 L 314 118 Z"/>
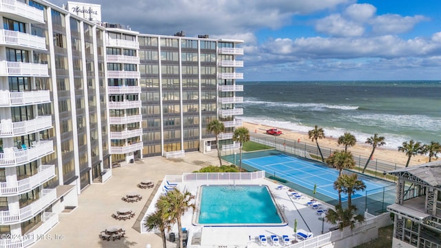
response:
<path fill-rule="evenodd" d="M 387 172 L 398 177 L 392 247 L 441 247 L 441 162 Z"/>

